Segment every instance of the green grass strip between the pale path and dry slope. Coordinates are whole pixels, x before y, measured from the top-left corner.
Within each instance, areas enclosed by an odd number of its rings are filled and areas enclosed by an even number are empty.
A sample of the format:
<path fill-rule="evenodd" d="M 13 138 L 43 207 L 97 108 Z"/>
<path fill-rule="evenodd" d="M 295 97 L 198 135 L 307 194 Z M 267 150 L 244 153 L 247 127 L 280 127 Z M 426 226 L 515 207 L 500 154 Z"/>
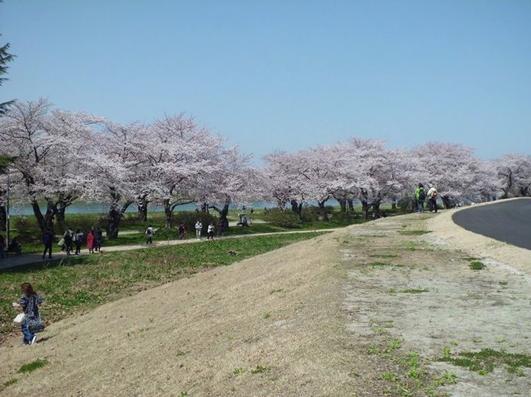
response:
<path fill-rule="evenodd" d="M 16 312 L 11 302 L 18 301 L 23 282 L 31 283 L 45 298 L 41 313 L 49 324 L 204 269 L 232 264 L 315 236 L 296 233 L 147 247 L 0 271 L 0 343 L 9 332 L 18 330 L 13 324 Z M 231 255 L 229 250 L 237 255 Z"/>

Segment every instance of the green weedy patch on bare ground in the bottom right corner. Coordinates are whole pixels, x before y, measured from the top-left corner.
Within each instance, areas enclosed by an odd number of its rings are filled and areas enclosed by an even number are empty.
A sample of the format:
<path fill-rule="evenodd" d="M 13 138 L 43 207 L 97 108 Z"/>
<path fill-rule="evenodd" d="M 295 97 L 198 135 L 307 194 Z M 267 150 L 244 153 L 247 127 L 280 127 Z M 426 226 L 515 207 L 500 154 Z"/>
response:
<path fill-rule="evenodd" d="M 460 352 L 452 357 L 445 354 L 439 362 L 449 362 L 457 367 L 486 375 L 496 367 L 506 367 L 511 374 L 521 374 L 521 368 L 531 368 L 531 355 L 524 353 L 508 353 L 503 350 L 483 349 L 479 352 Z"/>

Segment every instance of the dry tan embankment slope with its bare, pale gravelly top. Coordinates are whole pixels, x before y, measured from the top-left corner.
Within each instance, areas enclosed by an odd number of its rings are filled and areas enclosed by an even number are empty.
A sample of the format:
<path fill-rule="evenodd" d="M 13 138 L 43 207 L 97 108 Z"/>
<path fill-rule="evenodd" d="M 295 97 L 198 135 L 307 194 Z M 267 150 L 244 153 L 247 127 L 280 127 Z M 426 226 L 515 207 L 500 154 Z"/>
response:
<path fill-rule="evenodd" d="M 0 347 L 0 384 L 17 379 L 13 397 L 525 396 L 526 367 L 437 361 L 531 351 L 525 263 L 483 252 L 486 269 L 470 269 L 441 238 L 458 233 L 447 216 L 355 225 L 61 321 L 33 347 Z"/>

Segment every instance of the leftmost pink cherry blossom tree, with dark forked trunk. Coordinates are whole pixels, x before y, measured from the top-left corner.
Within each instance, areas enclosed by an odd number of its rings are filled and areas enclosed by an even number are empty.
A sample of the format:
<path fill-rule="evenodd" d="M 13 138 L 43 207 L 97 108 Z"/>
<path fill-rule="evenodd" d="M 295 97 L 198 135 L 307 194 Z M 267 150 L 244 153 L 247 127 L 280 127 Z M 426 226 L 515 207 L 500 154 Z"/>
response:
<path fill-rule="evenodd" d="M 53 227 L 57 217 L 64 224 L 64 211 L 86 187 L 84 159 L 91 144 L 91 126 L 101 119 L 86 113 L 52 109 L 45 100 L 16 102 L 0 119 L 0 140 L 18 180 L 17 196 L 33 208 L 42 231 Z M 45 201 L 42 213 L 40 200 Z"/>

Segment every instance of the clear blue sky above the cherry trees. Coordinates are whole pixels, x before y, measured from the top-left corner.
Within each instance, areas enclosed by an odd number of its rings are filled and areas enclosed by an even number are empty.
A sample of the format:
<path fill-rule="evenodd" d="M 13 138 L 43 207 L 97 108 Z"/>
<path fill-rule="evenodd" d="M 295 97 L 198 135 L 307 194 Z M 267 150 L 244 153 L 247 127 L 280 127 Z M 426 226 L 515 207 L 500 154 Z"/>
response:
<path fill-rule="evenodd" d="M 531 1 L 5 0 L 0 101 L 185 112 L 258 160 L 348 136 L 531 154 Z"/>

